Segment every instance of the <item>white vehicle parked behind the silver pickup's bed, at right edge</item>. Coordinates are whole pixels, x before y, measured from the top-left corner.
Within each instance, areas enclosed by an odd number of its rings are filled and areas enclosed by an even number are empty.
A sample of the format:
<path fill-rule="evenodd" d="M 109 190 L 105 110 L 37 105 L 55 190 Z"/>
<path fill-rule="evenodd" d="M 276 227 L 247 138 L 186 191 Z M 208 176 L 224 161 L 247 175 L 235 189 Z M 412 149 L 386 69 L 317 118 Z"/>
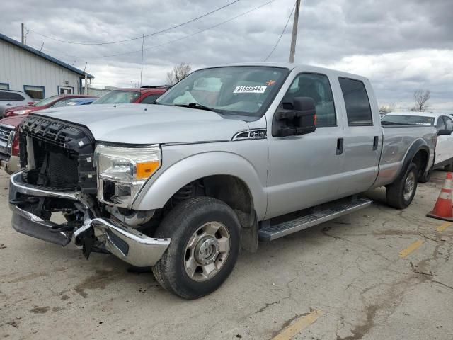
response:
<path fill-rule="evenodd" d="M 384 125 L 433 125 L 437 130 L 437 143 L 435 147 L 435 161 L 432 169 L 445 167 L 453 171 L 453 118 L 443 113 L 427 112 L 392 112 L 385 115 L 381 123 Z M 448 133 L 449 132 L 449 133 Z"/>

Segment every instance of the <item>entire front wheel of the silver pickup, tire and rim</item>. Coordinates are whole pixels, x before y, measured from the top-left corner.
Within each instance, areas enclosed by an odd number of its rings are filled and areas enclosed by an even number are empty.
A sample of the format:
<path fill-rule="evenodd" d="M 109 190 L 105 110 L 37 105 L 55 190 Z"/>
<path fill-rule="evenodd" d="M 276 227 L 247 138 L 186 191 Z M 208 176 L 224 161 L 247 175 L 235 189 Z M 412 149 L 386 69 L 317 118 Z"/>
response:
<path fill-rule="evenodd" d="M 155 237 L 171 238 L 153 267 L 159 284 L 185 299 L 219 288 L 236 264 L 241 225 L 221 200 L 198 197 L 177 205 L 164 218 Z"/>

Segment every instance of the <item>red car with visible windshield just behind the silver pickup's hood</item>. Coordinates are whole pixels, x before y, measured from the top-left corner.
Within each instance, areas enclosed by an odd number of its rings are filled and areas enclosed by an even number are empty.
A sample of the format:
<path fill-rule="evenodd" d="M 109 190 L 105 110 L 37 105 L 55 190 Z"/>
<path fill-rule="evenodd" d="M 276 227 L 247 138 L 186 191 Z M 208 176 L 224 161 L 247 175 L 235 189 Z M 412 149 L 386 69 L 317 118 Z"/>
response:
<path fill-rule="evenodd" d="M 136 89 L 115 89 L 95 101 L 93 104 L 152 104 L 167 91 L 168 86 L 143 86 Z"/>

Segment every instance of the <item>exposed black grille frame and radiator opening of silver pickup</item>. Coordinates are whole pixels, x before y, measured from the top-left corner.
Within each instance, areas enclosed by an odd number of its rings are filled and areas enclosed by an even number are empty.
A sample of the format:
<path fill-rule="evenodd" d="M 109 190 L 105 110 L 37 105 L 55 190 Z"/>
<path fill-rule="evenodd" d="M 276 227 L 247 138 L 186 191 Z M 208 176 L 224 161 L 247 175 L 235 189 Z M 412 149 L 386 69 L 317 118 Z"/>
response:
<path fill-rule="evenodd" d="M 88 129 L 31 115 L 21 125 L 20 141 L 27 183 L 57 191 L 96 193 L 94 139 Z"/>

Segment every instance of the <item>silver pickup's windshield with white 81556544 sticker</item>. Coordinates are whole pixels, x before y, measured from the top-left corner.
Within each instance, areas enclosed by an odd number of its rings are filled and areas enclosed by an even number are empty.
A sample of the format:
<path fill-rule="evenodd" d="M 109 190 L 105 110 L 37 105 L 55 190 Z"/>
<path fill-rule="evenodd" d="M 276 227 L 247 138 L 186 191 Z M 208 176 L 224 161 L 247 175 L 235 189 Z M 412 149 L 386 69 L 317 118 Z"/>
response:
<path fill-rule="evenodd" d="M 260 117 L 289 73 L 280 67 L 216 67 L 190 74 L 156 103 L 207 106 L 222 115 Z"/>

